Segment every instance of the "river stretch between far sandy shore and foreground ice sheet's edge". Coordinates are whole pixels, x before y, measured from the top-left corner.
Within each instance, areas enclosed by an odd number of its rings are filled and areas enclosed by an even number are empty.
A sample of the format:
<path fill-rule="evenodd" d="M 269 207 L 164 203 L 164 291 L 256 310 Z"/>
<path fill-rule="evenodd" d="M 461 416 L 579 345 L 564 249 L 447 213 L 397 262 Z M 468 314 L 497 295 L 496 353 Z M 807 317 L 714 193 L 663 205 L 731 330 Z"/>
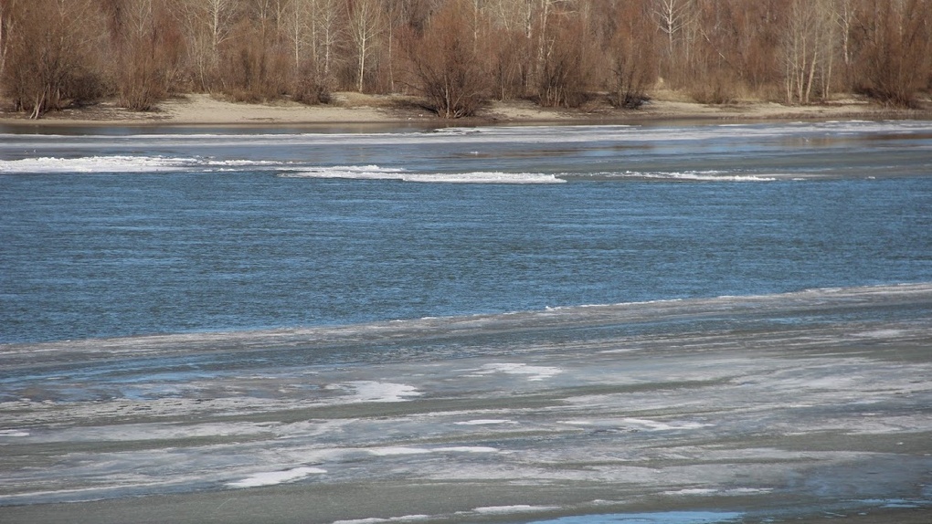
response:
<path fill-rule="evenodd" d="M 932 123 L 0 134 L 0 343 L 932 281 Z"/>

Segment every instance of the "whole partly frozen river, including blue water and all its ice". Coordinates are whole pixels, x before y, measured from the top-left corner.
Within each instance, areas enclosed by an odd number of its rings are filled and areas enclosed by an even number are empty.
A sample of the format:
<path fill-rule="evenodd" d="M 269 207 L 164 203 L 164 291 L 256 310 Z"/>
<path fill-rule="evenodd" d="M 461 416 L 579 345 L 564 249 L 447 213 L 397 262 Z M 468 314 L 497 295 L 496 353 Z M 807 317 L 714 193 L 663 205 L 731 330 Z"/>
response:
<path fill-rule="evenodd" d="M 4 522 L 929 521 L 932 124 L 0 137 Z"/>

